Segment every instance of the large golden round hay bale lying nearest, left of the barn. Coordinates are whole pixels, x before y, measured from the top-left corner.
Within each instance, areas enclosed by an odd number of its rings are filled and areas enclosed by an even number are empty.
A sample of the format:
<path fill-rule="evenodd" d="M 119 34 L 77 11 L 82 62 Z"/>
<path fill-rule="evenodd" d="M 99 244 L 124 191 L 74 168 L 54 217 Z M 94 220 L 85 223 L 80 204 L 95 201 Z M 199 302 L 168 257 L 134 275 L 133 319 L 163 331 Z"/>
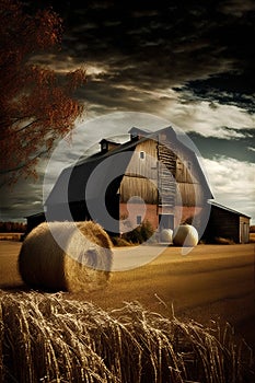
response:
<path fill-rule="evenodd" d="M 107 233 L 92 221 L 44 222 L 23 242 L 19 270 L 32 288 L 73 292 L 97 290 L 105 287 L 109 278 L 111 247 Z"/>

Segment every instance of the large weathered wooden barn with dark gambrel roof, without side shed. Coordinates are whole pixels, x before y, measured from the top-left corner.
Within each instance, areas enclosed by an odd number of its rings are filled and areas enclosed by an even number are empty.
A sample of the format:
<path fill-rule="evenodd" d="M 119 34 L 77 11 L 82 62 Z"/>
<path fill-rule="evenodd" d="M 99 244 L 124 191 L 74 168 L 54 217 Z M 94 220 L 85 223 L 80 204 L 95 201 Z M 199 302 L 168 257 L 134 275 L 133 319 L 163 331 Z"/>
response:
<path fill-rule="evenodd" d="M 96 154 L 65 169 L 46 200 L 47 216 L 69 219 L 68 198 L 74 221 L 93 219 L 109 233 L 144 220 L 154 229 L 173 229 L 194 217 L 199 230 L 213 197 L 196 153 L 171 127 L 157 132 L 131 128 L 129 134 L 121 144 L 103 139 Z"/>

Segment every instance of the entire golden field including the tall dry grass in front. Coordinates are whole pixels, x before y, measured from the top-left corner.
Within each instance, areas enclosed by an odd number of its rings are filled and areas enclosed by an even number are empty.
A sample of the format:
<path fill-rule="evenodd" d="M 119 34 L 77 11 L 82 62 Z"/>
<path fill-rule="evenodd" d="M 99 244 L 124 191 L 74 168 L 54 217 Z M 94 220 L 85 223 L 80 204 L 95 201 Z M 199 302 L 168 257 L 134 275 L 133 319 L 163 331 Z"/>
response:
<path fill-rule="evenodd" d="M 3 373 L 14 368 L 21 382 L 61 382 L 63 375 L 69 381 L 121 383 L 163 383 L 170 376 L 173 382 L 251 380 L 245 372 L 251 364 L 247 359 L 243 364 L 243 358 L 255 345 L 254 244 L 198 245 L 187 255 L 170 246 L 150 264 L 113 272 L 103 291 L 60 294 L 24 286 L 18 271 L 20 247 L 18 242 L 0 242 L 5 343 L 9 348 L 26 345 L 26 353 L 22 347 L 13 353 L 14 367 L 3 363 Z M 123 256 L 125 248 L 114 249 L 115 266 Z M 12 343 L 13 328 L 18 333 Z M 240 348 L 241 338 L 245 347 Z M 88 350 L 94 353 L 84 360 Z M 59 359 L 63 351 L 65 361 Z M 36 355 L 42 352 L 46 362 L 40 368 Z"/>

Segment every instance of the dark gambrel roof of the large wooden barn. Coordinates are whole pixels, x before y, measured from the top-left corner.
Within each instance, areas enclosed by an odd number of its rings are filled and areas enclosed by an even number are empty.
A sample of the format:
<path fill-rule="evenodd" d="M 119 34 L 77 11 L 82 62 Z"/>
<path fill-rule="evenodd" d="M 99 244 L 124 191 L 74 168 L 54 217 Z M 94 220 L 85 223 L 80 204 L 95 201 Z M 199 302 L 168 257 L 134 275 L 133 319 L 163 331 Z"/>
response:
<path fill-rule="evenodd" d="M 213 198 L 195 152 L 177 139 L 176 134 L 172 127 L 166 127 L 154 132 L 132 127 L 129 130 L 129 134 L 132 137 L 130 141 L 118 144 L 116 148 L 107 152 L 100 151 L 89 158 L 82 159 L 73 166 L 66 167 L 58 177 L 45 205 L 49 206 L 65 204 L 67 201 L 67 193 L 69 202 L 82 201 L 86 200 L 88 198 L 96 199 L 96 197 L 98 197 L 104 190 L 104 185 L 107 179 L 112 179 L 112 177 L 114 177 L 114 174 L 125 174 L 127 165 L 137 144 L 142 143 L 148 139 L 157 140 L 159 135 L 162 132 L 166 132 L 167 136 L 171 137 L 175 143 L 177 143 L 179 151 L 185 150 L 193 155 L 199 171 L 201 183 L 205 185 L 205 188 L 207 188 L 208 199 Z M 135 137 L 136 134 L 139 136 Z M 116 161 L 115 154 L 118 153 L 125 153 L 125 155 L 121 156 L 121 161 Z M 103 163 L 103 171 L 93 173 L 96 169 L 98 169 L 97 166 Z M 89 194 L 85 194 L 85 185 L 88 185 L 92 173 L 94 176 L 93 183 L 90 183 L 91 187 Z M 117 182 L 111 185 L 111 194 L 117 193 L 120 182 L 121 176 L 118 177 Z"/>

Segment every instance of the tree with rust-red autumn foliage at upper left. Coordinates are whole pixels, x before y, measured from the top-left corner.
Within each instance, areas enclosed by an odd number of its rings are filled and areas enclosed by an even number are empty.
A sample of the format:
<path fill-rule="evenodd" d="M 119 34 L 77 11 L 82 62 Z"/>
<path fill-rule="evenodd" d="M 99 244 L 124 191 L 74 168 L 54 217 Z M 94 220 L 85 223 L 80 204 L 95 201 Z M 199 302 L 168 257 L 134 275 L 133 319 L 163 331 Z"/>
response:
<path fill-rule="evenodd" d="M 32 60 L 60 49 L 62 21 L 53 9 L 31 15 L 21 2 L 0 0 L 0 174 L 5 182 L 36 175 L 38 159 L 83 112 L 76 90 L 85 81 L 84 70 L 63 77 Z"/>

